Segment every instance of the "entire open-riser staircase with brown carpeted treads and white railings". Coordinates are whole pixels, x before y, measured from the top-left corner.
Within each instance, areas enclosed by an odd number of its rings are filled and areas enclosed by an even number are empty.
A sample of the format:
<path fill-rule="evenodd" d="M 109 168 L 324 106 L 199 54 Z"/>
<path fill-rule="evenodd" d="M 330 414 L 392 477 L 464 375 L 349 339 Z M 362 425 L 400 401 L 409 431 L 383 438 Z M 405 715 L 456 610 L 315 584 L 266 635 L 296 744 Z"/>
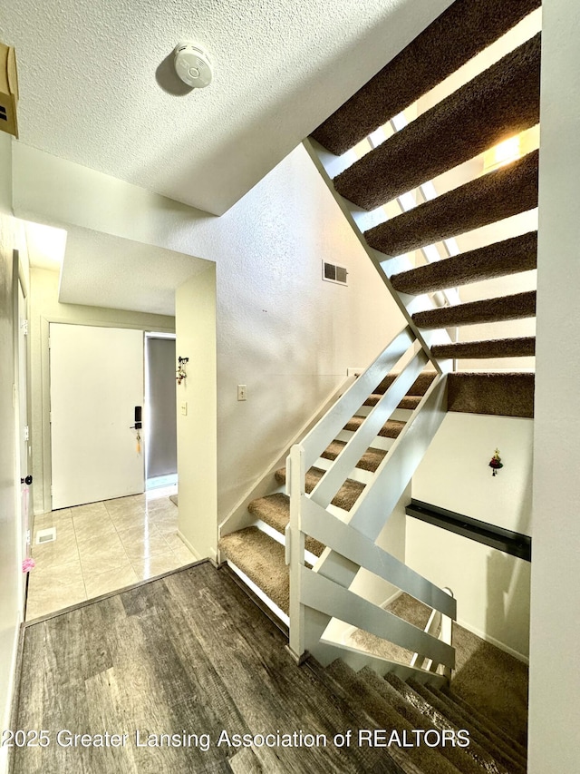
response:
<path fill-rule="evenodd" d="M 304 141 L 405 326 L 292 447 L 275 476 L 285 491 L 252 501 L 247 526 L 227 534 L 226 524 L 219 544 L 289 626 L 295 658 L 314 655 L 320 679 L 366 713 L 362 728 L 469 729 L 465 749 L 423 744 L 395 755 L 405 771 L 526 769 L 519 742 L 449 694 L 456 617 L 449 590 L 377 540 L 447 410 L 533 416 L 533 373 L 484 369 L 498 358 L 512 369 L 514 358 L 532 358 L 535 338 L 466 331 L 534 318 L 536 290 L 460 296 L 536 268 L 536 230 L 522 229 L 521 216 L 537 206 L 538 150 L 488 171 L 479 154 L 514 135 L 528 142 L 536 131 L 540 34 L 517 25 L 539 5 L 456 0 Z M 446 78 L 503 35 L 524 39 L 422 109 L 421 97 L 445 90 Z M 459 242 L 473 246 L 460 250 Z M 462 370 L 467 359 L 484 369 Z M 376 603 L 365 573 L 428 605 L 424 629 Z M 337 622 L 406 649 L 411 660 L 345 644 Z"/>

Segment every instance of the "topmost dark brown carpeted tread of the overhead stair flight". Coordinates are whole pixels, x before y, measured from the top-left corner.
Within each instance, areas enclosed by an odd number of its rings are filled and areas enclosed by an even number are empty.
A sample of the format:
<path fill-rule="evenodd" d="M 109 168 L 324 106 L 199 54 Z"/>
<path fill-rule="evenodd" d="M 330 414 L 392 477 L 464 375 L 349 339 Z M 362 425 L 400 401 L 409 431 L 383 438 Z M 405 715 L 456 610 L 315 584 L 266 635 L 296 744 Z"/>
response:
<path fill-rule="evenodd" d="M 340 155 L 454 73 L 541 0 L 456 0 L 343 104 L 313 137 Z"/>

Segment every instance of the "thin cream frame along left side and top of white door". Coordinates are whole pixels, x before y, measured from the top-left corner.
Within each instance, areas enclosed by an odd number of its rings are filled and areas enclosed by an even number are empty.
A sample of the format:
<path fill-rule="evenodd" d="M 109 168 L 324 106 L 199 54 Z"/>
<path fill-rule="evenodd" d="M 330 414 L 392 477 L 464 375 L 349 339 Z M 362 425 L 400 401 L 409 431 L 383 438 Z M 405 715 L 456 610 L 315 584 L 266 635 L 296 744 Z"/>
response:
<path fill-rule="evenodd" d="M 42 511 L 48 514 L 52 510 L 51 485 L 53 480 L 53 464 L 51 450 L 51 380 L 50 380 L 50 326 L 51 323 L 63 325 L 83 325 L 97 328 L 128 328 L 147 332 L 150 326 L 143 327 L 139 324 L 131 324 L 118 320 L 102 319 L 72 319 L 62 315 L 50 315 L 40 317 L 40 347 L 41 347 L 41 391 L 42 391 L 42 423 L 41 423 L 41 475 L 38 485 L 42 487 Z M 170 328 L 159 328 L 160 331 L 172 333 Z M 36 478 L 34 479 L 36 481 Z M 37 510 L 34 509 L 34 514 Z"/>

